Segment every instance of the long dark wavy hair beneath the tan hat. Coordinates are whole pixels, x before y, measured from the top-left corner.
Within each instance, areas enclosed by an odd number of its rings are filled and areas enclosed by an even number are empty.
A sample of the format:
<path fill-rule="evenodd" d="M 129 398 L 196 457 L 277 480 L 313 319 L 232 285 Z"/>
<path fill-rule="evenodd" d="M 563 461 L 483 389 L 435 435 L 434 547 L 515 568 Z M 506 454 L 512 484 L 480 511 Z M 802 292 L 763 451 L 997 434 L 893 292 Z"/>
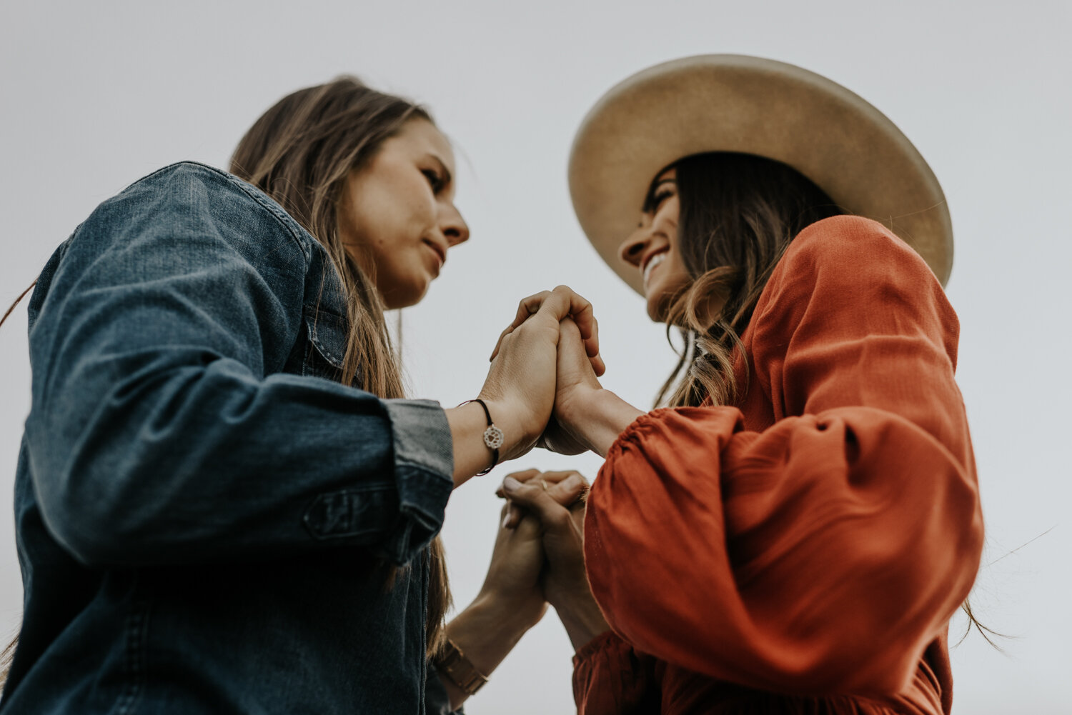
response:
<path fill-rule="evenodd" d="M 809 224 L 847 211 L 796 169 L 764 157 L 710 152 L 672 166 L 681 206 L 678 247 L 693 281 L 673 297 L 666 317 L 667 338 L 676 328 L 684 347 L 656 404 L 697 406 L 710 396 L 714 404 L 732 405 L 747 389 L 733 372 L 738 349 L 747 360 L 741 334 L 775 265 Z M 712 297 L 725 300 L 714 316 L 705 310 Z M 1007 636 L 981 623 L 969 600 L 961 610 L 968 620 L 965 637 L 974 628 L 1000 651 L 992 636 Z"/>

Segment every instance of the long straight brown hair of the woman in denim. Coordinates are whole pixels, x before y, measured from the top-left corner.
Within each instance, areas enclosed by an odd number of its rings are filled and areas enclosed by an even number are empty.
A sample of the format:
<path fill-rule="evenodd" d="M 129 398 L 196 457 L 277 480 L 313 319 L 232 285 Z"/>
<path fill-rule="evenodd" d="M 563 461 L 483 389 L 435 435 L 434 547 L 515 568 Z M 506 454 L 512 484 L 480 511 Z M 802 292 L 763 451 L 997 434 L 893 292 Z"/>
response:
<path fill-rule="evenodd" d="M 339 235 L 338 205 L 346 177 L 383 143 L 427 109 L 364 86 L 351 76 L 287 94 L 253 123 L 230 158 L 229 170 L 265 192 L 327 250 L 346 294 L 348 333 L 341 381 L 382 398 L 405 397 L 398 353 L 372 279 L 351 258 Z M 450 587 L 443 540 L 429 549 L 428 653 L 443 641 Z M 392 583 L 397 569 L 388 576 Z"/>

